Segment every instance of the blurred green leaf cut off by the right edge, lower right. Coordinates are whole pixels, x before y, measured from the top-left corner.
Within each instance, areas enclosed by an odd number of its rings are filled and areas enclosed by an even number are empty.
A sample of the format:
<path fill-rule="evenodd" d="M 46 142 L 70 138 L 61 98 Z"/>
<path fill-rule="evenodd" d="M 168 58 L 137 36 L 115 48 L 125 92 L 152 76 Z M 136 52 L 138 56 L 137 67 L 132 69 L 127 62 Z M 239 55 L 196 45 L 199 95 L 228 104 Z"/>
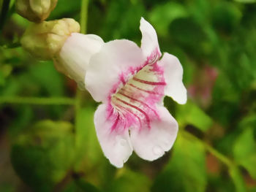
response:
<path fill-rule="evenodd" d="M 246 128 L 236 139 L 233 154 L 236 162 L 244 166 L 249 174 L 256 179 L 256 143 L 252 128 Z"/>

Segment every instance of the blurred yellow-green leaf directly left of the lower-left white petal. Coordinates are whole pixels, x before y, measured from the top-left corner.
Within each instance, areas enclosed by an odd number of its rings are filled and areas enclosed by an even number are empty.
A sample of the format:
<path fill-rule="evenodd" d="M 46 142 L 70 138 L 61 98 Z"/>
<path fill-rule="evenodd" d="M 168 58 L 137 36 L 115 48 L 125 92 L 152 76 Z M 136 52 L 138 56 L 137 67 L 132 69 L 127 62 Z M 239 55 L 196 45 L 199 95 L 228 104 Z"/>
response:
<path fill-rule="evenodd" d="M 84 179 L 94 185 L 108 185 L 115 169 L 110 165 L 99 146 L 94 128 L 95 107 L 86 106 L 76 118 L 75 172 L 83 173 Z"/>

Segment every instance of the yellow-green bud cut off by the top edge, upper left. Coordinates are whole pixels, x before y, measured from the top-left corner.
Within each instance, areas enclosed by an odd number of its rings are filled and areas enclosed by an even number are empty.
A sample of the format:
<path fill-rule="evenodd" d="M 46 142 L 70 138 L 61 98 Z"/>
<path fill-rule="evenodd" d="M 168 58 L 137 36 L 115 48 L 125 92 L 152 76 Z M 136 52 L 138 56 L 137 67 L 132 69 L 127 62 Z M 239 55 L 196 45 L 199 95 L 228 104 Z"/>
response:
<path fill-rule="evenodd" d="M 16 11 L 23 18 L 40 23 L 50 15 L 58 0 L 17 0 Z"/>

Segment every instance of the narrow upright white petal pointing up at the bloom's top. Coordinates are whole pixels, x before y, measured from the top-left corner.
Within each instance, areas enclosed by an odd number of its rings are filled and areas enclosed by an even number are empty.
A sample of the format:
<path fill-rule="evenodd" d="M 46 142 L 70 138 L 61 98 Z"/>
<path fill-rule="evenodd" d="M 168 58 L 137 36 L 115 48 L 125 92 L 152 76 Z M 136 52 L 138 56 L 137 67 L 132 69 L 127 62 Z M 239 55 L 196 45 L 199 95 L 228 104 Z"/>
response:
<path fill-rule="evenodd" d="M 154 53 L 156 49 L 160 54 L 157 33 L 154 30 L 154 27 L 144 18 L 140 19 L 140 31 L 142 34 L 140 47 L 143 50 L 143 54 L 148 57 Z"/>

